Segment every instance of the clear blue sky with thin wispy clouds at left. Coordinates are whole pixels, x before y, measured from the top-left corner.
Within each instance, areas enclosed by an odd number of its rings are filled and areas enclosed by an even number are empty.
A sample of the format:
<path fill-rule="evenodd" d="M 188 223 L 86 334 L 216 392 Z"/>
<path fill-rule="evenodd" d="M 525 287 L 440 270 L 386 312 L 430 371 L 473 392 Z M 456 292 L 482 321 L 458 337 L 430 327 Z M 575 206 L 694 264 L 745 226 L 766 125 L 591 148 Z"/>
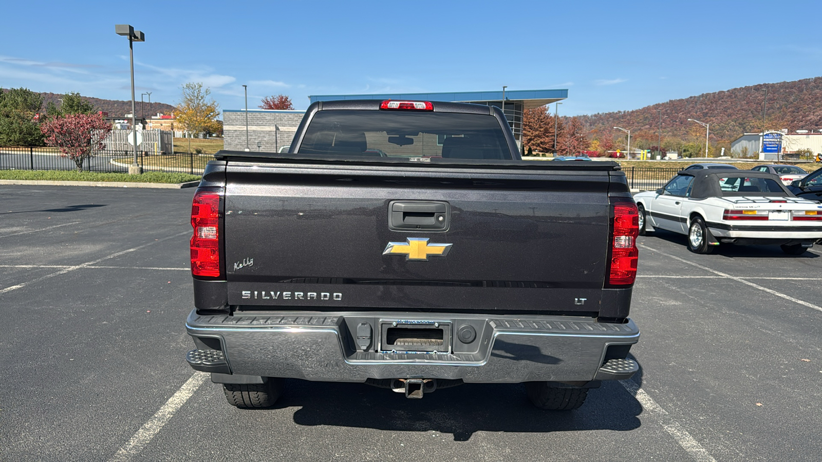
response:
<path fill-rule="evenodd" d="M 155 7 L 152 7 L 155 6 Z M 561 115 L 822 76 L 812 2 L 7 2 L 0 86 L 222 109 L 307 95 L 563 88 Z M 21 21 L 10 21 L 20 18 Z"/>

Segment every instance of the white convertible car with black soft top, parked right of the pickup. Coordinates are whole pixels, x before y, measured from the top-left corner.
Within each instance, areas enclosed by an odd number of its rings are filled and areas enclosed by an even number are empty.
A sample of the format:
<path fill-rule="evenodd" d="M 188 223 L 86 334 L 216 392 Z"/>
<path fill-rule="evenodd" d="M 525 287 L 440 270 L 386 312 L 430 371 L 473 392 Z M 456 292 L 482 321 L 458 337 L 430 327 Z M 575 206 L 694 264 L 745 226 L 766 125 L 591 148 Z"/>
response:
<path fill-rule="evenodd" d="M 686 234 L 690 252 L 710 253 L 720 243 L 779 244 L 800 255 L 822 238 L 822 204 L 794 196 L 772 173 L 683 171 L 634 199 L 641 235 L 656 228 Z"/>

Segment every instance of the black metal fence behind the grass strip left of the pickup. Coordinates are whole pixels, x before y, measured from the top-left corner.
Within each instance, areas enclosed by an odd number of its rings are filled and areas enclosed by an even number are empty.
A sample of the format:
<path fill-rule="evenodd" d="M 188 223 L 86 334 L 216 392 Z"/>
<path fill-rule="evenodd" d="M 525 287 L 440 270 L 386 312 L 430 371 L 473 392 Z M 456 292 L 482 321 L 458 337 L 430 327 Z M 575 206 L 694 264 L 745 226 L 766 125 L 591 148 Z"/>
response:
<path fill-rule="evenodd" d="M 214 155 L 154 154 L 137 152 L 137 164 L 144 172 L 179 172 L 201 174 L 205 164 Z M 128 172 L 134 164 L 134 151 L 95 150 L 83 161 L 86 172 Z M 49 147 L 0 147 L 0 170 L 76 170 L 72 159 L 62 157 L 60 151 Z"/>

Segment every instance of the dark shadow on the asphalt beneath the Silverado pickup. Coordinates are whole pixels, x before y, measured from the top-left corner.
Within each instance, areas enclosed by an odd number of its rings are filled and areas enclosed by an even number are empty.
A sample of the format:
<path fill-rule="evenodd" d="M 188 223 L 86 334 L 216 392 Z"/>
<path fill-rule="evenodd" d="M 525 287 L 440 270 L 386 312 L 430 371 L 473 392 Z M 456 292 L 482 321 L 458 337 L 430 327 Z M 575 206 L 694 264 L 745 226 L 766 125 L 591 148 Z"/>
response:
<path fill-rule="evenodd" d="M 633 358 L 629 356 L 629 358 Z M 642 385 L 642 368 L 634 378 Z M 469 441 L 475 432 L 629 431 L 640 427 L 642 405 L 619 382 L 589 390 L 580 409 L 533 407 L 522 384 L 465 384 L 408 400 L 364 384 L 288 380 L 278 409 L 298 407 L 298 425 L 360 427 L 390 432 L 450 433 Z"/>

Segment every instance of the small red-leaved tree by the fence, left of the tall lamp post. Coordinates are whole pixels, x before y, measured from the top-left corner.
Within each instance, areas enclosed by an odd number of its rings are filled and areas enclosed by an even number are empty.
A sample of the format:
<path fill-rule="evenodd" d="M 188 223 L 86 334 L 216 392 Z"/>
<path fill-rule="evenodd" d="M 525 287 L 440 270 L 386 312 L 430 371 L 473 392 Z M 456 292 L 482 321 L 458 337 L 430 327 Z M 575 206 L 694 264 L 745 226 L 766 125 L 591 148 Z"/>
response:
<path fill-rule="evenodd" d="M 58 148 L 60 156 L 72 159 L 77 171 L 82 172 L 85 159 L 104 148 L 111 123 L 100 114 L 66 114 L 40 124 L 40 132 L 46 136 L 46 146 Z"/>

